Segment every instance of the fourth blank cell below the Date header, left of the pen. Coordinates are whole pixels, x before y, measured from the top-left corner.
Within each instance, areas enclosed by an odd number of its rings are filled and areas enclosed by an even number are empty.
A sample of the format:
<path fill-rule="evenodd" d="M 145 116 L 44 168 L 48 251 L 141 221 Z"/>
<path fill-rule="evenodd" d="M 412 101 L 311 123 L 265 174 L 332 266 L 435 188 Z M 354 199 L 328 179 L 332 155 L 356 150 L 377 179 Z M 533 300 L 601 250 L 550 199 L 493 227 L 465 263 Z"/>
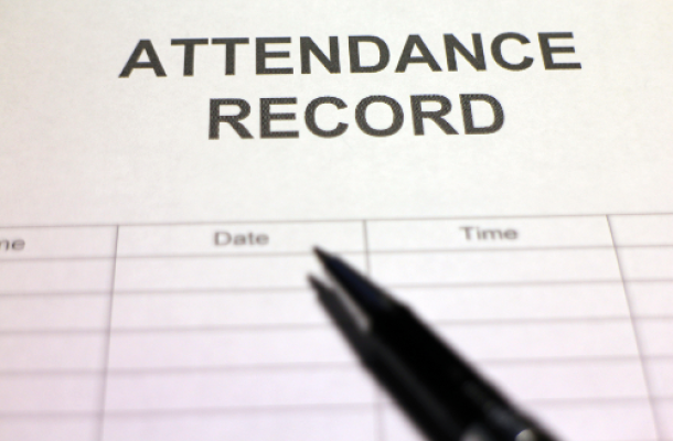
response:
<path fill-rule="evenodd" d="M 110 374 L 108 386 L 113 412 L 374 402 L 373 380 L 356 366 Z"/>

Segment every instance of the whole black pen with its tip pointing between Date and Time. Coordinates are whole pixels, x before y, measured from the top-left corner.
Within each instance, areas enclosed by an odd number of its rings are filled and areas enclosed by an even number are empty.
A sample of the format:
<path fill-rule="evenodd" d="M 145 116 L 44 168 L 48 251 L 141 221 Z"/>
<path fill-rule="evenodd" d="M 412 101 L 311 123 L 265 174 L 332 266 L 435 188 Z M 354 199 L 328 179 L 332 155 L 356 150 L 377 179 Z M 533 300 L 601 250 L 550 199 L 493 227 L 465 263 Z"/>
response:
<path fill-rule="evenodd" d="M 364 365 L 431 440 L 552 441 L 414 313 L 316 248 L 332 283 L 309 277 Z"/>

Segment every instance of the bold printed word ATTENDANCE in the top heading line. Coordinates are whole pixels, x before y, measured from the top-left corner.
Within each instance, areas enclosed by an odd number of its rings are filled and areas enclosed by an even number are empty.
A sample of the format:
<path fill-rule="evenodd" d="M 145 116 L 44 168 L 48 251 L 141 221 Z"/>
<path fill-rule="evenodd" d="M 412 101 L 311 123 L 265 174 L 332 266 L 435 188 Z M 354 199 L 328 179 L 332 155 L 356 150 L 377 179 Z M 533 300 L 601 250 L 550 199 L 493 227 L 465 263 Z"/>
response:
<path fill-rule="evenodd" d="M 538 52 L 527 49 L 531 40 L 537 40 Z M 567 58 L 567 54 L 575 53 L 571 45 L 571 32 L 540 32 L 536 37 L 527 37 L 516 32 L 505 32 L 493 36 L 484 44 L 480 33 L 473 33 L 470 37 L 459 40 L 453 34 L 444 34 L 432 39 L 432 45 L 441 44 L 441 53 L 432 53 L 420 35 L 413 34 L 406 37 L 399 53 L 393 54 L 388 43 L 376 35 L 350 35 L 348 37 L 349 67 L 344 69 L 341 63 L 341 47 L 343 41 L 338 36 L 319 39 L 314 41 L 310 36 L 301 36 L 298 40 L 290 36 L 270 36 L 254 39 L 250 45 L 249 37 L 222 37 L 222 39 L 172 39 L 171 46 L 182 51 L 183 76 L 194 76 L 194 60 L 203 49 L 201 46 L 216 46 L 224 51 L 224 75 L 236 75 L 237 61 L 241 52 L 254 51 L 255 73 L 257 75 L 292 75 L 311 74 L 316 63 L 330 74 L 373 74 L 386 69 L 396 73 L 407 72 L 409 65 L 420 65 L 431 72 L 456 72 L 460 68 L 474 71 L 487 71 L 489 66 L 498 66 L 508 71 L 525 71 L 540 56 L 544 69 L 579 69 L 580 63 Z M 437 40 L 437 41 L 435 41 Z M 297 47 L 298 43 L 298 47 Z M 250 47 L 252 46 L 252 47 Z M 512 55 L 511 47 L 524 49 L 523 55 Z M 509 47 L 510 50 L 508 50 Z M 490 51 L 488 51 L 490 49 Z M 490 60 L 487 53 L 490 52 Z M 538 53 L 538 55 L 535 54 Z M 364 56 L 364 54 L 371 56 Z M 161 62 L 159 51 L 151 40 L 140 40 L 136 44 L 131 55 L 124 65 L 119 77 L 128 78 L 136 69 L 152 72 L 157 77 L 167 76 Z M 293 64 L 298 58 L 300 69 Z M 222 60 L 222 58 L 221 58 Z M 246 56 L 246 60 L 249 57 Z M 275 60 L 275 63 L 270 63 Z M 461 62 L 459 63 L 459 60 Z M 278 65 L 278 63 L 280 65 Z M 468 67 L 469 66 L 469 67 Z"/>

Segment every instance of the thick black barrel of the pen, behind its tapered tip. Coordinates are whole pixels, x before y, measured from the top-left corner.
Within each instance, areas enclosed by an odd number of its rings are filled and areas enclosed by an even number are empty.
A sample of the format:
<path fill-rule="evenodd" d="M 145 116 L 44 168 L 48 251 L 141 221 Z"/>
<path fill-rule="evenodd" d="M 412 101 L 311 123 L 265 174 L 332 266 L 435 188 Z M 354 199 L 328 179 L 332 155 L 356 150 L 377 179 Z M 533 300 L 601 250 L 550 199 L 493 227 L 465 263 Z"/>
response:
<path fill-rule="evenodd" d="M 374 318 L 365 363 L 435 440 L 547 441 L 403 305 Z"/>

